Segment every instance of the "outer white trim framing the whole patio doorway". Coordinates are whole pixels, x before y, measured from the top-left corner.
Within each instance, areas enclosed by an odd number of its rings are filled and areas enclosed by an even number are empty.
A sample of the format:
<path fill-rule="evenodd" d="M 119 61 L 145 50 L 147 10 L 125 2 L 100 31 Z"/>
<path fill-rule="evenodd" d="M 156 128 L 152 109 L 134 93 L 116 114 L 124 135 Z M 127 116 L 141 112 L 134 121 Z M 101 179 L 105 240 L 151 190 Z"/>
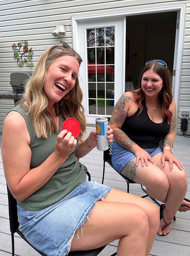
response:
<path fill-rule="evenodd" d="M 177 45 L 177 54 L 176 54 L 176 73 L 175 73 L 175 86 L 174 86 L 174 99 L 178 109 L 178 101 L 179 101 L 179 91 L 180 91 L 180 77 L 181 77 L 181 67 L 182 67 L 182 49 L 183 49 L 183 41 L 184 41 L 184 26 L 185 26 L 185 10 L 186 4 L 172 4 L 172 5 L 155 5 L 155 7 L 144 7 L 142 6 L 139 9 L 134 10 L 126 10 L 122 9 L 122 11 L 115 11 L 109 13 L 96 13 L 92 14 L 89 12 L 88 14 L 85 13 L 81 15 L 74 15 L 71 17 L 72 21 L 72 40 L 73 40 L 73 48 L 80 52 L 80 46 L 78 41 L 78 21 L 81 20 L 89 20 L 89 19 L 98 19 L 98 18 L 105 18 L 113 16 L 130 16 L 130 15 L 138 15 L 138 14 L 149 14 L 149 13 L 161 13 L 161 12 L 168 12 L 168 11 L 180 11 L 179 17 L 179 34 L 178 34 L 178 41 L 175 42 Z M 115 99 L 117 100 L 117 99 Z"/>

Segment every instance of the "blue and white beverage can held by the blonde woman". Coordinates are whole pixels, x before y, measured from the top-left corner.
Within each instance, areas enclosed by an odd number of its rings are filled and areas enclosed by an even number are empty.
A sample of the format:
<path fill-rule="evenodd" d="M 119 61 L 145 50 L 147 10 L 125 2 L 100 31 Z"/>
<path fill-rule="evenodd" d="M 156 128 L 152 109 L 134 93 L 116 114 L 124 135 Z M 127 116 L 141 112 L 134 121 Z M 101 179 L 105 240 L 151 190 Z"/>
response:
<path fill-rule="evenodd" d="M 96 118 L 97 149 L 105 151 L 109 148 L 107 139 L 107 117 Z"/>

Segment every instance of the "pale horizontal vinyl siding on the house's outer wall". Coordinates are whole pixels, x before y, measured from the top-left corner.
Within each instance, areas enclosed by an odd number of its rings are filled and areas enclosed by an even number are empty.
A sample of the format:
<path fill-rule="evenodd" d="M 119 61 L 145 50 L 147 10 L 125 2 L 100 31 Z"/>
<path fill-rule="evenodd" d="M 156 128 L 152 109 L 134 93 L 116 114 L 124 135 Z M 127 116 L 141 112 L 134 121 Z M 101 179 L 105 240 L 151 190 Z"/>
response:
<path fill-rule="evenodd" d="M 62 39 L 72 46 L 71 16 L 99 13 L 113 13 L 115 11 L 132 10 L 135 8 L 151 8 L 170 4 L 186 3 L 186 23 L 184 35 L 183 64 L 180 81 L 180 108 L 190 108 L 190 0 L 161 1 L 161 0 L 1 0 L 0 1 L 0 91 L 12 90 L 10 73 L 31 72 L 34 68 L 19 67 L 13 57 L 12 44 L 27 40 L 29 48 L 34 54 L 34 66 L 40 54 L 49 46 Z M 53 37 L 51 33 L 57 25 L 65 24 L 66 36 Z M 80 54 L 80 51 L 79 51 Z M 13 100 L 0 99 L 0 133 L 4 118 L 9 109 L 14 106 Z M 178 134 L 181 119 L 178 118 Z M 190 124 L 188 124 L 188 129 Z"/>

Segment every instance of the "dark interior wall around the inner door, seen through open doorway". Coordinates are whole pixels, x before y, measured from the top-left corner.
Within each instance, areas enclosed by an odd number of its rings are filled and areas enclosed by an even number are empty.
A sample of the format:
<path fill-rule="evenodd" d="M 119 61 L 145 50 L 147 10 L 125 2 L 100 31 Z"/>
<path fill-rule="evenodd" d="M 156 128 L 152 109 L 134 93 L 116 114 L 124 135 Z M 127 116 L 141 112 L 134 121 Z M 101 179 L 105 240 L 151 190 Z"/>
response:
<path fill-rule="evenodd" d="M 140 70 L 144 67 L 146 61 L 148 61 L 147 42 L 148 37 L 150 36 L 172 36 L 171 64 L 169 67 L 170 71 L 172 72 L 175 47 L 176 17 L 177 12 L 127 16 L 126 39 L 129 40 L 129 64 L 126 64 L 125 66 L 126 81 L 128 80 L 129 76 L 132 77 L 132 80 L 137 80 Z"/>

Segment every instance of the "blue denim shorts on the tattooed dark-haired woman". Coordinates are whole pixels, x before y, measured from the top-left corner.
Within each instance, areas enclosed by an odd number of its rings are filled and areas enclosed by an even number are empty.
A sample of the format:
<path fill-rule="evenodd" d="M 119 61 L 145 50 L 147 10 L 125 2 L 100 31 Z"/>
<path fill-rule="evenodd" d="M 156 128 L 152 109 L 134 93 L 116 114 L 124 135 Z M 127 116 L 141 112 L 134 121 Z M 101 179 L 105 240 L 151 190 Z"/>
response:
<path fill-rule="evenodd" d="M 151 157 L 155 156 L 156 154 L 163 152 L 161 146 L 158 146 L 154 149 L 144 149 Z M 114 141 L 112 146 L 112 164 L 115 170 L 118 173 L 121 173 L 123 168 L 133 159 L 135 158 L 135 154 L 128 149 L 121 146 L 117 141 Z"/>

